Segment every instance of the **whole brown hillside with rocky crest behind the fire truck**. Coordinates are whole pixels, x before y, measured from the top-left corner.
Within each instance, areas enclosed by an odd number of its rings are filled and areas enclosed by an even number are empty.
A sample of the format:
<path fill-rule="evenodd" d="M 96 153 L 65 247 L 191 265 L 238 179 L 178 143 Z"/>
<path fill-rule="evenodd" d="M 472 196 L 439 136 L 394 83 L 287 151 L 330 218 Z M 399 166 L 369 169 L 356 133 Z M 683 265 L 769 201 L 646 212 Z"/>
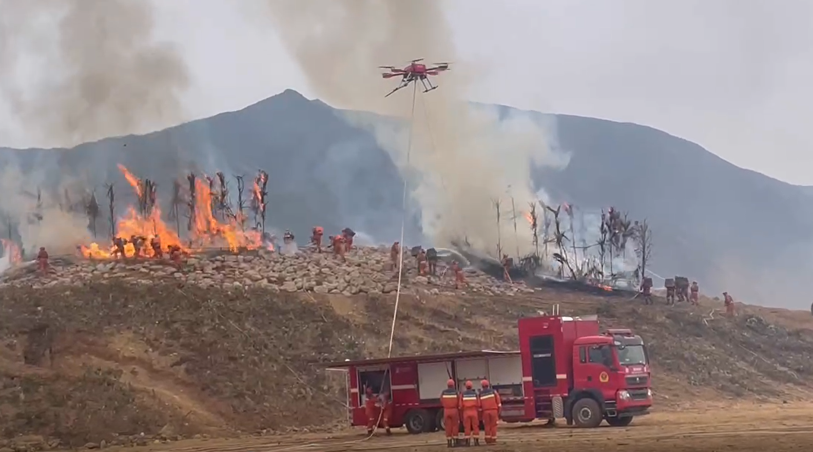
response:
<path fill-rule="evenodd" d="M 180 268 L 77 259 L 54 263 L 46 276 L 17 267 L 0 289 L 0 447 L 335 425 L 344 381 L 315 364 L 386 353 L 394 301 L 387 254 L 358 250 L 347 263 L 220 255 Z M 468 280 L 463 293 L 449 280 L 407 274 L 393 353 L 512 349 L 517 318 L 560 304 L 563 313 L 598 313 L 605 326 L 641 333 L 659 406 L 810 397 L 809 313 L 741 306 L 724 319 L 711 306 L 531 290 L 474 272 Z"/>

